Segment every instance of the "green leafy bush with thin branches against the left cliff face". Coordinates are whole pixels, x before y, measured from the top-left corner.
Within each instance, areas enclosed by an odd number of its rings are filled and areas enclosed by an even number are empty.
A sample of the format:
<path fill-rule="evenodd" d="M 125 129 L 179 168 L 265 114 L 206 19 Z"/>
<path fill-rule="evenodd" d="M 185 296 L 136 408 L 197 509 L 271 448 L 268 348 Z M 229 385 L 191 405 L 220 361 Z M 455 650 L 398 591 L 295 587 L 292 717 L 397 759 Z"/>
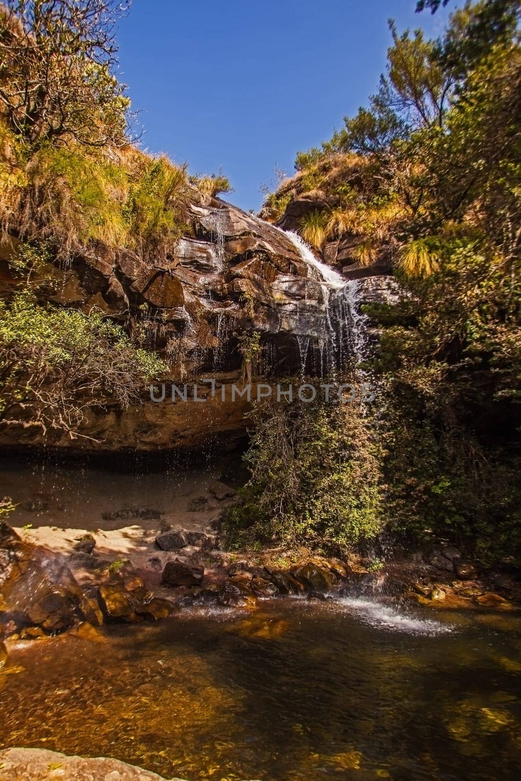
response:
<path fill-rule="evenodd" d="M 139 401 L 166 369 L 100 312 L 38 305 L 27 292 L 0 302 L 0 426 L 84 436 L 87 409 Z"/>

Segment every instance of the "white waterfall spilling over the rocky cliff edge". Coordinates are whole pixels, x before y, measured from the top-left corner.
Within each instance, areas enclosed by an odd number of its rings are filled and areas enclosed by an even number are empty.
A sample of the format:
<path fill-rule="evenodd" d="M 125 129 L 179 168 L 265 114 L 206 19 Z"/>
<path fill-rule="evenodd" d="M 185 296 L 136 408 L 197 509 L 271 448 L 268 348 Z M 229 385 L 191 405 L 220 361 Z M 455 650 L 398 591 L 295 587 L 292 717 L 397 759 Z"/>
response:
<path fill-rule="evenodd" d="M 280 230 L 277 229 L 277 230 Z M 291 230 L 280 230 L 294 247 L 312 273 L 318 276 L 323 293 L 325 318 L 319 335 L 321 370 L 323 375 L 334 375 L 344 368 L 350 356 L 358 367 L 369 354 L 367 339 L 368 317 L 360 311 L 361 286 L 359 280 L 346 280 L 344 276 L 319 261 L 301 236 Z M 302 339 L 298 346 L 301 352 L 302 373 L 305 370 L 305 354 Z M 309 343 L 306 346 L 306 353 Z"/>

